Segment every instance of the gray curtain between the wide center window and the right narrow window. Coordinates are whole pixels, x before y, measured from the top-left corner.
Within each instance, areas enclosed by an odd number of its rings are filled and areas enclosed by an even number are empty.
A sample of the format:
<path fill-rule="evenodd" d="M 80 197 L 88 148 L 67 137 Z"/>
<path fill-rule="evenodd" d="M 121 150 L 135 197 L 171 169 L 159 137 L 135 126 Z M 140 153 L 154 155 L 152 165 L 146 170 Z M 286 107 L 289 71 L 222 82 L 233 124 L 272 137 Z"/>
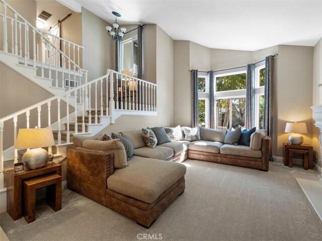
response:
<path fill-rule="evenodd" d="M 246 79 L 246 117 L 245 127 L 251 129 L 254 127 L 255 115 L 255 64 L 247 65 L 247 79 Z"/>

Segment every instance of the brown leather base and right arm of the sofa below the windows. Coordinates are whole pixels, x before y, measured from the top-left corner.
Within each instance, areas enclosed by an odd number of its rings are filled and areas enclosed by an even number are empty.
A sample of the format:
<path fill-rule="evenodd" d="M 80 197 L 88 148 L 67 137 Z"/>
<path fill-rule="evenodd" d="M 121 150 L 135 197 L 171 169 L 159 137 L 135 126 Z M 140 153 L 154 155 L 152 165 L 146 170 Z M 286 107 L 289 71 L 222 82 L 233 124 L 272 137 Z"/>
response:
<path fill-rule="evenodd" d="M 269 145 L 271 138 L 266 136 L 262 139 L 262 157 L 245 157 L 239 155 L 227 155 L 197 150 L 188 150 L 188 158 L 196 160 L 205 160 L 206 162 L 228 164 L 233 166 L 254 168 L 268 171 L 269 168 Z"/>

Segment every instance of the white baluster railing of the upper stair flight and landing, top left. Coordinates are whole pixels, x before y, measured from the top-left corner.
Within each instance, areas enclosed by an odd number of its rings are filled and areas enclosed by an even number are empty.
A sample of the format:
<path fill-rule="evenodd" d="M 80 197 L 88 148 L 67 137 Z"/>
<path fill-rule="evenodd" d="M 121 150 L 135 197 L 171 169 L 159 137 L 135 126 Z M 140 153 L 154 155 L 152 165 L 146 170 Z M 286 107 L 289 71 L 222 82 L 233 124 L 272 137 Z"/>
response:
<path fill-rule="evenodd" d="M 82 46 L 58 38 L 63 49 L 60 50 L 48 38 L 54 39 L 51 34 L 35 28 L 4 0 L 0 0 L 0 3 L 3 4 L 3 14 L 0 14 L 3 24 L 1 51 L 19 56 L 25 66 L 37 67 L 40 77 L 52 79 L 53 87 L 64 88 L 68 85 L 70 90 L 76 85 L 75 82 L 78 85 L 87 83 L 87 70 L 79 66 L 79 56 L 82 56 L 84 49 Z"/>

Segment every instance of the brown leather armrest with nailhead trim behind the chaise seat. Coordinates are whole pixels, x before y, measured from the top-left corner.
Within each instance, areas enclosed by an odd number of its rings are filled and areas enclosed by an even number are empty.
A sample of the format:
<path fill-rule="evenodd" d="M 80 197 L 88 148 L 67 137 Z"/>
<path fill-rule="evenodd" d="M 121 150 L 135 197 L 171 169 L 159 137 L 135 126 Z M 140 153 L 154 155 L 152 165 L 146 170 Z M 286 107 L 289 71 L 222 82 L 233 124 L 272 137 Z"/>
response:
<path fill-rule="evenodd" d="M 114 173 L 113 154 L 106 151 L 67 147 L 67 186 L 105 205 L 107 178 Z"/>

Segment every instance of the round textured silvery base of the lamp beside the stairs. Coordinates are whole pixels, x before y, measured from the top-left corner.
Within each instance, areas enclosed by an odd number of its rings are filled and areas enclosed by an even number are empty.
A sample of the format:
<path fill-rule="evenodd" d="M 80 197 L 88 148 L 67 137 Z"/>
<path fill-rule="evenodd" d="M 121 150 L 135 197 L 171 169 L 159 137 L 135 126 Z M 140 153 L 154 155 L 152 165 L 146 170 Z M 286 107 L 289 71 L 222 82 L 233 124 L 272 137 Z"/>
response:
<path fill-rule="evenodd" d="M 43 168 L 48 163 L 48 152 L 43 148 L 27 150 L 22 157 L 25 168 L 34 170 Z"/>

